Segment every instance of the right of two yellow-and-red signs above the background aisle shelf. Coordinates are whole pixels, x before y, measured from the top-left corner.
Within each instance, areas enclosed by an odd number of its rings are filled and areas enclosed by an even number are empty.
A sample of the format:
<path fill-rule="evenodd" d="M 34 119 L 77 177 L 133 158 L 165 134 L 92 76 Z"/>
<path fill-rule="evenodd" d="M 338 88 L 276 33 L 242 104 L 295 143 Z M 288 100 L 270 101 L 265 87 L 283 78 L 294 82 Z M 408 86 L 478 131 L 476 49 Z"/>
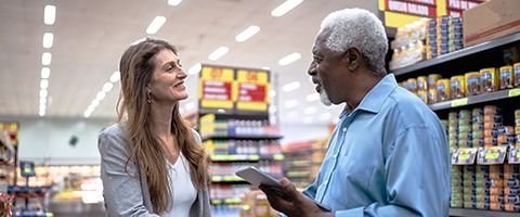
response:
<path fill-rule="evenodd" d="M 269 72 L 237 71 L 237 110 L 268 111 Z"/>

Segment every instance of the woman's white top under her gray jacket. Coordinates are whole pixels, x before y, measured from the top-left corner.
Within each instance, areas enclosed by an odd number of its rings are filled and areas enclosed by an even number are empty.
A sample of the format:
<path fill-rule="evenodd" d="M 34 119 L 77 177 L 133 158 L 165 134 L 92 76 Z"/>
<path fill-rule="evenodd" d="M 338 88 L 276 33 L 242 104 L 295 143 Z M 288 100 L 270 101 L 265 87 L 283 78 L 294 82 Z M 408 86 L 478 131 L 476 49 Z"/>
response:
<path fill-rule="evenodd" d="M 173 191 L 173 206 L 160 214 L 162 217 L 190 217 L 190 209 L 197 199 L 197 190 L 190 176 L 190 166 L 182 153 L 176 164 L 168 163 L 170 169 L 170 188 Z"/>

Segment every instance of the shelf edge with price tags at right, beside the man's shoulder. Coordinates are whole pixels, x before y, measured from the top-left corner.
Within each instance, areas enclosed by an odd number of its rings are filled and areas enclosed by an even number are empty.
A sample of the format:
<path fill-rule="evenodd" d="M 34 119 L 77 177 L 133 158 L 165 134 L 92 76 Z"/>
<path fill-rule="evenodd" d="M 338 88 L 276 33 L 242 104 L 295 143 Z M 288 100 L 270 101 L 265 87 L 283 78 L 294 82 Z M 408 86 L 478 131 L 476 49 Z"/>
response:
<path fill-rule="evenodd" d="M 507 98 L 516 98 L 520 95 L 520 88 L 499 90 L 496 92 L 484 92 L 478 95 L 471 95 L 463 99 L 451 100 L 440 103 L 429 104 L 428 106 L 433 111 L 448 110 L 452 107 L 466 106 L 482 102 L 490 102 L 496 100 L 503 100 Z"/>

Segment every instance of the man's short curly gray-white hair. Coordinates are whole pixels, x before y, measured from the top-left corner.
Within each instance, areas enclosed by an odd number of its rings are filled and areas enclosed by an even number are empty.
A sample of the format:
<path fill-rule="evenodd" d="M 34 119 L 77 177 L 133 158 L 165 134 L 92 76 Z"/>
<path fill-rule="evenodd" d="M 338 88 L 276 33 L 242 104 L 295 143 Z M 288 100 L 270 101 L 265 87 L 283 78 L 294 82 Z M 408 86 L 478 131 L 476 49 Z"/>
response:
<path fill-rule="evenodd" d="M 330 30 L 327 49 L 344 52 L 356 47 L 375 74 L 385 72 L 385 55 L 388 39 L 381 21 L 363 9 L 343 9 L 328 14 L 322 22 L 320 33 Z"/>

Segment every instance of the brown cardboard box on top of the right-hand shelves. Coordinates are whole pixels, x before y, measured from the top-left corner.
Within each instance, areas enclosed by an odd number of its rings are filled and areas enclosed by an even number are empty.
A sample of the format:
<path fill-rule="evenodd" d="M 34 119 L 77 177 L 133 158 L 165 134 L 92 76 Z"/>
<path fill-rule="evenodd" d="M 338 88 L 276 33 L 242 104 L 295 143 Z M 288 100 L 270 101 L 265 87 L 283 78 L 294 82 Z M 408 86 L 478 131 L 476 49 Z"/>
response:
<path fill-rule="evenodd" d="M 464 46 L 520 31 L 520 1 L 491 0 L 463 12 Z"/>

